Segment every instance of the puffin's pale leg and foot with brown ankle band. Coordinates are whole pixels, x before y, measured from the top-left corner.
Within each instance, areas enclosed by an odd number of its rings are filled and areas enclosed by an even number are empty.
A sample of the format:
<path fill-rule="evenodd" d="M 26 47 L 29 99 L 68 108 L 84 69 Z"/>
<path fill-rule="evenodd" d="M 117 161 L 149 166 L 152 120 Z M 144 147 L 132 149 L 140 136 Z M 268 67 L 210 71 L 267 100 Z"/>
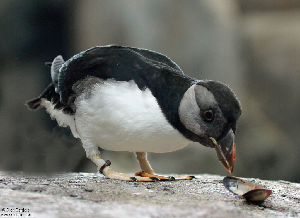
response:
<path fill-rule="evenodd" d="M 97 170 L 101 170 L 101 173 L 105 175 L 107 179 L 116 179 L 116 180 L 122 180 L 122 181 L 145 181 L 145 182 L 153 182 L 153 181 L 159 181 L 158 178 L 149 176 L 149 177 L 141 177 L 137 175 L 128 175 L 124 173 L 117 173 L 113 171 L 109 167 L 110 161 L 104 161 L 100 157 L 100 153 L 98 151 L 97 147 L 92 147 L 91 149 L 86 149 L 87 157 L 97 166 Z M 109 164 L 107 164 L 109 163 Z"/>

